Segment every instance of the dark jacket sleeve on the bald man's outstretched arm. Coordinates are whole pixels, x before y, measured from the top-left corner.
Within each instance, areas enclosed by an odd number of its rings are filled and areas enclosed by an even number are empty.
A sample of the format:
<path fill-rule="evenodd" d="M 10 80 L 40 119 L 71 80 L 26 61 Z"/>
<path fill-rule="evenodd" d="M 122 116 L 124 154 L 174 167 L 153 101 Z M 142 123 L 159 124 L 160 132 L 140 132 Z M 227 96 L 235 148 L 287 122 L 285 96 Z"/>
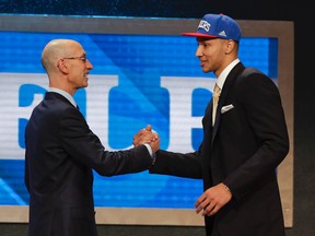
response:
<path fill-rule="evenodd" d="M 151 165 L 151 156 L 144 145 L 122 151 L 106 151 L 77 109 L 69 108 L 63 111 L 59 122 L 60 142 L 67 153 L 102 176 L 139 173 Z"/>

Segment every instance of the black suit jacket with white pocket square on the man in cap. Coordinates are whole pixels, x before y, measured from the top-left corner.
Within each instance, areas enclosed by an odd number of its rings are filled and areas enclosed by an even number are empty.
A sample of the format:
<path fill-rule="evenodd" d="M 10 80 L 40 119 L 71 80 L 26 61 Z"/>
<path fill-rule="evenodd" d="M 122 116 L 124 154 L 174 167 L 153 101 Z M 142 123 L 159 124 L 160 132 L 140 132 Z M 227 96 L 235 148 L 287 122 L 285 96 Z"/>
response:
<path fill-rule="evenodd" d="M 269 78 L 244 69 L 240 62 L 228 75 L 213 128 L 212 102 L 208 105 L 199 150 L 159 151 L 150 173 L 202 178 L 205 190 L 222 181 L 230 187 L 232 201 L 205 219 L 207 235 L 214 226 L 221 236 L 283 236 L 276 169 L 289 138 L 281 99 Z M 228 105 L 234 107 L 224 113 Z"/>

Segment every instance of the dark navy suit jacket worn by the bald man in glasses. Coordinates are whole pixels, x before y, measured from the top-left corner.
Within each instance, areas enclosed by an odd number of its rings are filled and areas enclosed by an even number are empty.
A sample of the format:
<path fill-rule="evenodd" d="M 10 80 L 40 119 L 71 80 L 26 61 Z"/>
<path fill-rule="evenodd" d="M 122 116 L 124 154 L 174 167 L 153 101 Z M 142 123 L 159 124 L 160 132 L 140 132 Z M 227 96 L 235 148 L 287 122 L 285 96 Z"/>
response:
<path fill-rule="evenodd" d="M 105 151 L 82 114 L 51 92 L 34 109 L 25 143 L 28 236 L 95 236 L 92 169 L 114 176 L 142 172 L 151 164 L 144 145 Z"/>

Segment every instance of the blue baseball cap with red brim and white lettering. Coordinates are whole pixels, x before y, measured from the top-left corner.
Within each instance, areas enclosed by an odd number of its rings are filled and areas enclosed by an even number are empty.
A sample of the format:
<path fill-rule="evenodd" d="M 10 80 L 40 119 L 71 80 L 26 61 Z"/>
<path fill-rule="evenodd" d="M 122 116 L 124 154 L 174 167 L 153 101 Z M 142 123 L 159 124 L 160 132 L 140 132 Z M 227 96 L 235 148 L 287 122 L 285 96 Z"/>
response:
<path fill-rule="evenodd" d="M 242 31 L 240 25 L 224 14 L 206 14 L 195 33 L 182 33 L 184 36 L 222 38 L 240 42 Z"/>

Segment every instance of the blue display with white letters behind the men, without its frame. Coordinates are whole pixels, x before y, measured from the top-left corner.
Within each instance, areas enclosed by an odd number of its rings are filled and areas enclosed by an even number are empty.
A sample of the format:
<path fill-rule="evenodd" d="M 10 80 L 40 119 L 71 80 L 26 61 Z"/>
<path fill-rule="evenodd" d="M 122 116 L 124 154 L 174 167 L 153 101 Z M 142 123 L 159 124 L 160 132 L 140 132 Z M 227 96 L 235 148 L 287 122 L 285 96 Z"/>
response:
<path fill-rule="evenodd" d="M 0 205 L 28 203 L 23 180 L 23 152 L 24 128 L 30 111 L 23 113 L 23 108 L 31 106 L 35 95 L 43 96 L 46 92 L 42 82 L 34 82 L 32 76 L 43 74 L 43 82 L 48 82 L 40 64 L 40 54 L 52 38 L 72 38 L 83 45 L 94 66 L 91 83 L 97 79 L 105 81 L 109 75 L 114 76 L 113 84 L 117 82 L 115 86 L 109 86 L 108 93 L 101 91 L 91 95 L 86 88 L 75 94 L 88 123 L 91 121 L 96 126 L 97 130 L 93 128 L 93 131 L 102 133 L 104 129 L 104 123 L 94 121 L 97 119 L 95 114 L 108 118 L 104 137 L 107 149 L 127 149 L 132 143 L 132 135 L 147 123 L 159 132 L 161 149 L 174 151 L 171 148 L 175 148 L 175 151 L 187 152 L 198 149 L 202 140 L 201 118 L 211 99 L 211 87 L 205 87 L 205 84 L 211 85 L 208 81 L 214 78 L 201 72 L 195 57 L 195 38 L 19 32 L 1 32 L 0 37 L 0 140 L 5 140 L 0 144 Z M 258 68 L 277 80 L 277 39 L 248 37 L 241 40 L 240 58 L 245 66 Z M 16 80 L 20 76 L 21 80 Z M 205 84 L 198 86 L 199 80 L 206 80 Z M 191 81 L 197 83 L 192 88 Z M 186 94 L 189 90 L 191 94 Z M 13 98 L 9 99 L 11 96 Z M 190 104 L 187 104 L 187 96 L 191 96 L 188 99 Z M 96 101 L 93 107 L 89 105 L 91 97 Z M 106 97 L 108 103 L 104 110 L 101 97 Z M 200 120 L 199 127 L 188 125 L 189 134 L 180 133 L 180 127 L 183 133 L 184 128 L 187 129 L 185 122 L 180 123 L 180 109 L 183 113 L 189 109 L 191 120 L 196 118 L 197 123 Z M 173 118 L 175 121 L 171 121 Z M 178 127 L 173 129 L 172 126 Z M 183 145 L 185 142 L 179 142 L 179 139 L 187 137 L 189 145 Z M 94 176 L 96 206 L 189 209 L 194 208 L 195 200 L 202 192 L 201 180 L 149 175 L 148 172 L 110 178 L 96 173 Z"/>

